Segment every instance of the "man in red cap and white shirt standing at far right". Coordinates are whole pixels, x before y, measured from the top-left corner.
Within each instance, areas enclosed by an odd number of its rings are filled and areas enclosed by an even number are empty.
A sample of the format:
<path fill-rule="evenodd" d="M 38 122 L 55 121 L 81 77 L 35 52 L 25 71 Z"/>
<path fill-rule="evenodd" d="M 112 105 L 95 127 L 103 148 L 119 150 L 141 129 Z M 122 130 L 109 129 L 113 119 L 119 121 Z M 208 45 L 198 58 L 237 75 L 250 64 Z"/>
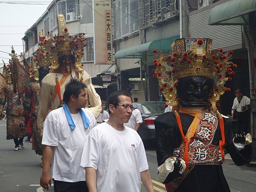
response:
<path fill-rule="evenodd" d="M 250 132 L 248 131 L 248 122 L 249 122 L 249 107 L 250 107 L 250 99 L 247 96 L 244 96 L 241 89 L 236 90 L 236 98 L 234 99 L 232 106 L 232 117 L 234 118 L 234 114 L 238 120 L 238 128 L 239 134 L 242 132 Z"/>

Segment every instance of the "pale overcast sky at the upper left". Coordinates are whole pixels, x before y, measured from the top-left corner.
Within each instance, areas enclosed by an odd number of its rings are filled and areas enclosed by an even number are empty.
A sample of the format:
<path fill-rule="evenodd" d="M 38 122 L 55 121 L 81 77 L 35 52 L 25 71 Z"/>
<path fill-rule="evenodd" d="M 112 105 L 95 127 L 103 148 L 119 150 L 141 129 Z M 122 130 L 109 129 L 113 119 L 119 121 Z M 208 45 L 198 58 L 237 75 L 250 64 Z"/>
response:
<path fill-rule="evenodd" d="M 13 45 L 15 52 L 20 55 L 20 52 L 23 52 L 21 38 L 24 37 L 26 30 L 46 11 L 51 1 L 35 0 L 35 2 L 41 1 L 45 5 L 1 3 L 6 1 L 0 0 L 0 51 L 11 52 Z M 12 3 L 24 1 L 28 0 L 8 0 Z M 8 63 L 10 56 L 3 52 L 0 52 L 0 63 L 3 61 Z"/>

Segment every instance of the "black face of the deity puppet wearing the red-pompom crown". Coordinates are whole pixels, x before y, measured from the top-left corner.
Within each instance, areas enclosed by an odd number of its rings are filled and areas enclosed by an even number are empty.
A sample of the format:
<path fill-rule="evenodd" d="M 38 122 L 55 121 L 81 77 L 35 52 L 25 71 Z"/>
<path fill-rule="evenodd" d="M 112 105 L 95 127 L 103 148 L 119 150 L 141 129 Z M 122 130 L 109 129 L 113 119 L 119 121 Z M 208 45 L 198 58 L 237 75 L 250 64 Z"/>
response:
<path fill-rule="evenodd" d="M 177 96 L 183 107 L 209 107 L 209 95 L 213 93 L 213 79 L 190 76 L 178 79 Z"/>

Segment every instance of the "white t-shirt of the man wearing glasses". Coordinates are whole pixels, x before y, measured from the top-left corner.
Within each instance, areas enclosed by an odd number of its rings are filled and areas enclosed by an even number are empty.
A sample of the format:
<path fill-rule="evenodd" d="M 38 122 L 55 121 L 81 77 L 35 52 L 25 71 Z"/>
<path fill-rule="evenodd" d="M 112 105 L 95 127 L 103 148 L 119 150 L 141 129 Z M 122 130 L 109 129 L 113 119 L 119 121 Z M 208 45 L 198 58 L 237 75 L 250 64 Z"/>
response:
<path fill-rule="evenodd" d="M 96 169 L 97 192 L 140 192 L 140 172 L 148 162 L 136 131 L 126 126 L 117 131 L 104 122 L 88 135 L 81 166 Z"/>

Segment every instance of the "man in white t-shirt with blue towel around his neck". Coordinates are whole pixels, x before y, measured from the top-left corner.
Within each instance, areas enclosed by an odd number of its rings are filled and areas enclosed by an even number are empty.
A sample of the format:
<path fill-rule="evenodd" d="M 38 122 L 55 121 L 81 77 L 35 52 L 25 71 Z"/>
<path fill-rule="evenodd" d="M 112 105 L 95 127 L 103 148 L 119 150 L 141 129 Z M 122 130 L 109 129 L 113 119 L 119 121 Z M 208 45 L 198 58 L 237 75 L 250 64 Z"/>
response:
<path fill-rule="evenodd" d="M 88 192 L 85 171 L 79 165 L 84 141 L 96 125 L 96 119 L 93 113 L 83 108 L 87 102 L 85 87 L 76 79 L 68 83 L 63 95 L 63 107 L 51 111 L 44 120 L 40 179 L 44 189 L 48 190 L 51 186 L 51 165 L 55 192 Z"/>

